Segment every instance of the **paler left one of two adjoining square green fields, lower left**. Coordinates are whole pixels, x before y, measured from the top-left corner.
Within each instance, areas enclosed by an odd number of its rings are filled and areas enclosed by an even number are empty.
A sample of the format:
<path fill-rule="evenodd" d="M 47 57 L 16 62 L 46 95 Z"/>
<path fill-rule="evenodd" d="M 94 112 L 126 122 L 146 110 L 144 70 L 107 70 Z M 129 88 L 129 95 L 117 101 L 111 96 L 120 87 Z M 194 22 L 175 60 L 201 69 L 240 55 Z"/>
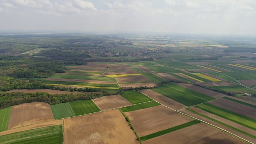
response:
<path fill-rule="evenodd" d="M 51 105 L 51 109 L 55 120 L 76 116 L 68 102 Z"/>

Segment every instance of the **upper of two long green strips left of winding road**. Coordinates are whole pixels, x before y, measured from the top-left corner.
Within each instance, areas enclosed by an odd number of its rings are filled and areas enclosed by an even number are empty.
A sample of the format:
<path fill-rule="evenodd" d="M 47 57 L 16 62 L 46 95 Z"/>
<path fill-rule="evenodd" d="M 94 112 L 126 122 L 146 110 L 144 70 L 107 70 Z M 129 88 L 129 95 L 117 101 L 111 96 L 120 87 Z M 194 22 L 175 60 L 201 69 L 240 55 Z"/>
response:
<path fill-rule="evenodd" d="M 77 75 L 77 74 L 60 74 L 55 73 L 54 75 L 50 76 L 50 78 L 67 78 L 67 79 L 80 79 L 80 80 L 101 80 L 101 81 L 108 81 L 114 82 L 114 78 L 109 78 L 106 76 L 90 76 L 90 75 Z"/>

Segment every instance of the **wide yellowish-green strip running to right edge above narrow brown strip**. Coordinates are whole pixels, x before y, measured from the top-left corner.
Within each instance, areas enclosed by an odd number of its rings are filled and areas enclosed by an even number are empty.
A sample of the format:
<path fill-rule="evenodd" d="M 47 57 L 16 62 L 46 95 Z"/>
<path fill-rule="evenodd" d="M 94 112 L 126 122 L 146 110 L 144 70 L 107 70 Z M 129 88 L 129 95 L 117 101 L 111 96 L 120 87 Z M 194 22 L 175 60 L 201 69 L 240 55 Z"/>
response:
<path fill-rule="evenodd" d="M 198 106 L 195 106 L 196 108 L 199 108 L 201 110 L 204 110 L 206 112 L 210 112 L 211 114 L 215 114 L 216 116 L 220 116 L 222 118 L 225 118 L 227 120 L 230 120 L 232 122 L 235 122 L 237 124 L 240 124 L 242 126 L 245 126 L 246 128 L 250 128 L 252 130 L 256 130 L 256 123 L 251 122 L 249 120 L 246 120 L 244 118 L 240 118 L 238 116 L 234 116 L 232 114 L 229 114 L 227 112 L 223 112 L 221 110 L 218 110 L 216 108 L 206 106 L 205 104 L 200 104 Z"/>

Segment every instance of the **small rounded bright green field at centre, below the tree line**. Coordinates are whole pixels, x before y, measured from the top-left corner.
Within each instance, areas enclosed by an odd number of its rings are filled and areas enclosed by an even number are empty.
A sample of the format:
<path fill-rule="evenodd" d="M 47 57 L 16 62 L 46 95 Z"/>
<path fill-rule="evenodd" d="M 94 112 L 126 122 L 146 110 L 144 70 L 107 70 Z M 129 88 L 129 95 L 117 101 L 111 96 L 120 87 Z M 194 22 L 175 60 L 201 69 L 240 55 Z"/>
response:
<path fill-rule="evenodd" d="M 152 100 L 148 96 L 142 94 L 141 92 L 137 91 L 125 91 L 124 93 L 120 94 L 122 97 L 124 97 L 126 100 L 131 102 L 132 104 L 139 104 L 142 102 L 148 102 Z"/>

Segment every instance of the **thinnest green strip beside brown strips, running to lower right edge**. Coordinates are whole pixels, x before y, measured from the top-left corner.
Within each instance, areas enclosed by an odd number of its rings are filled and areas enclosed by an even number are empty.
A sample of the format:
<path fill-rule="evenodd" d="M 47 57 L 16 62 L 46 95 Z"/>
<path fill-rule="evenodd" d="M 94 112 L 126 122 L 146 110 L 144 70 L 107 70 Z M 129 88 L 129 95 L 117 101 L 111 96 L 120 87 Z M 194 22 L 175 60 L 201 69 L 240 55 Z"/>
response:
<path fill-rule="evenodd" d="M 193 112 L 194 114 L 198 114 L 199 116 L 202 116 L 202 117 L 207 118 L 207 119 L 209 119 L 209 120 L 212 120 L 213 122 L 217 122 L 218 124 L 221 124 L 221 125 L 223 125 L 223 126 L 226 126 L 226 127 L 230 128 L 230 129 L 232 129 L 232 130 L 235 130 L 235 131 L 237 131 L 237 132 L 240 132 L 241 134 L 244 134 L 244 135 L 246 135 L 246 136 L 250 136 L 251 138 L 256 139 L 256 136 L 254 136 L 254 135 L 252 135 L 252 134 L 248 134 L 247 132 L 244 132 L 244 131 L 239 130 L 239 129 L 237 129 L 237 128 L 234 128 L 234 127 L 232 127 L 232 126 L 230 126 L 230 125 L 228 125 L 228 124 L 225 124 L 225 123 L 223 123 L 223 122 L 220 122 L 220 121 L 215 120 L 215 119 L 213 119 L 213 118 L 210 118 L 210 117 L 208 117 L 208 116 L 205 116 L 205 115 L 203 115 L 203 114 L 200 114 L 199 112 L 195 112 L 194 110 L 190 110 L 189 108 L 186 108 L 186 110 L 188 110 L 188 111 L 190 111 L 190 112 Z"/>

